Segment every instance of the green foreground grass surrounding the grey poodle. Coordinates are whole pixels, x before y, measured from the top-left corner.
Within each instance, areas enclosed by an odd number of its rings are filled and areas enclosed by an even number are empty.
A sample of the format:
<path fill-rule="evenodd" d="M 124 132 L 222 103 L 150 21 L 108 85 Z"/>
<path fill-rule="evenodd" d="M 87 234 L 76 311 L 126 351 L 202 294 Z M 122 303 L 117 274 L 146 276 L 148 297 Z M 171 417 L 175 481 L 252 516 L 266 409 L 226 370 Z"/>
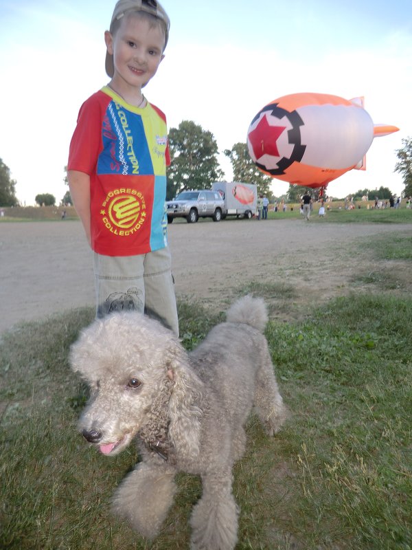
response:
<path fill-rule="evenodd" d="M 183 302 L 179 316 L 191 348 L 222 312 Z M 76 431 L 87 389 L 67 354 L 92 317 L 71 311 L 1 338 L 0 547 L 183 550 L 198 478 L 179 474 L 176 503 L 148 542 L 108 510 L 133 445 L 108 459 Z M 410 298 L 365 294 L 302 322 L 269 322 L 290 419 L 273 439 L 248 423 L 234 472 L 237 550 L 411 550 L 411 326 Z"/>

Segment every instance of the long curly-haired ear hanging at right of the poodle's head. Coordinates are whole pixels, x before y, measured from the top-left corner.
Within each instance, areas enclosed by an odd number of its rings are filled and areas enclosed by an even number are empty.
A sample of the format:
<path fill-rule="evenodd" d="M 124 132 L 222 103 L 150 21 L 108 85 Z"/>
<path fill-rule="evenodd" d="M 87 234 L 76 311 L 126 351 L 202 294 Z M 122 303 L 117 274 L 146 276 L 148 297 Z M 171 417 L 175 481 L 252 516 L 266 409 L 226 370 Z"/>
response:
<path fill-rule="evenodd" d="M 199 454 L 203 382 L 190 369 L 187 353 L 174 350 L 168 364 L 168 377 L 173 380 L 169 401 L 169 436 L 182 458 L 193 459 Z"/>

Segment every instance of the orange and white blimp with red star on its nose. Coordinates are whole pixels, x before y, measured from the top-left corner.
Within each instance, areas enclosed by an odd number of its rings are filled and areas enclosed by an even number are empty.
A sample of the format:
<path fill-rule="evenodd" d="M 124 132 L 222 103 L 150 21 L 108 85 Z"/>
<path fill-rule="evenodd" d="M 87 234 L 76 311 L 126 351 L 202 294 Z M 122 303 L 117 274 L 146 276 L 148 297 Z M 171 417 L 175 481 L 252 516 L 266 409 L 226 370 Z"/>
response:
<path fill-rule="evenodd" d="M 396 126 L 374 124 L 363 98 L 291 94 L 267 104 L 253 118 L 247 146 L 264 173 L 306 187 L 326 187 L 352 168 L 365 169 L 374 137 Z"/>

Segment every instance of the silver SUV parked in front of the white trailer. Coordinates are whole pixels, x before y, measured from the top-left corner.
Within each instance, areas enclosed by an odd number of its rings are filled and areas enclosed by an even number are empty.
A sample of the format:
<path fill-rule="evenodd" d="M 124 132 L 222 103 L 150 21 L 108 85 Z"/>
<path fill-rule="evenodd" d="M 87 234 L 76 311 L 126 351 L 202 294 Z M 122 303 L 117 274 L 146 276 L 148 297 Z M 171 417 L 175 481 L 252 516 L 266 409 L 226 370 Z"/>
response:
<path fill-rule="evenodd" d="M 222 219 L 225 206 L 220 193 L 211 190 L 182 191 L 176 199 L 167 201 L 168 223 L 174 218 L 186 218 L 187 223 L 196 223 L 199 218 L 213 218 L 213 221 Z"/>

